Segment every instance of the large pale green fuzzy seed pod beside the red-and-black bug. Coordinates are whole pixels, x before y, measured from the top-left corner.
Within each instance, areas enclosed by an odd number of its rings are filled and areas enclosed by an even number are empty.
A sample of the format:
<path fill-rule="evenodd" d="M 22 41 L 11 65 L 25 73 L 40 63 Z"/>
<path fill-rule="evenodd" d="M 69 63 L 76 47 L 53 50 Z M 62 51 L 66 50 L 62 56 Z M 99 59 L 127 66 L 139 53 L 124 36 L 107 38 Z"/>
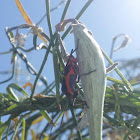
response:
<path fill-rule="evenodd" d="M 88 104 L 89 133 L 91 140 L 102 139 L 102 118 L 104 95 L 106 88 L 106 68 L 100 46 L 87 28 L 76 23 L 73 28 L 76 50 L 84 98 Z"/>

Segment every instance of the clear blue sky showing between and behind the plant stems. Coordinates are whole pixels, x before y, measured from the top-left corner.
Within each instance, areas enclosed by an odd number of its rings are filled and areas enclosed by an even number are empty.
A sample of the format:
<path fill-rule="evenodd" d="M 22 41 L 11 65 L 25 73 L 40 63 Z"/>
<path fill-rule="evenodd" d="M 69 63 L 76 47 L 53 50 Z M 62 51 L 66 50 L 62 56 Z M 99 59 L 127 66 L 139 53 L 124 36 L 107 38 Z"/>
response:
<path fill-rule="evenodd" d="M 40 18 L 44 15 L 46 11 L 45 0 L 21 0 L 26 12 L 30 16 L 34 23 L 37 23 Z M 51 8 L 55 7 L 60 2 L 56 0 L 51 0 Z M 85 4 L 85 0 L 72 1 L 70 8 L 68 10 L 66 18 L 74 18 L 78 11 Z M 53 32 L 55 31 L 55 25 L 59 23 L 61 14 L 63 12 L 64 5 L 51 13 Z M 109 55 L 111 49 L 112 37 L 120 33 L 126 33 L 131 39 L 126 48 L 114 53 L 113 60 L 118 59 L 133 59 L 138 58 L 139 49 L 139 38 L 140 38 L 140 1 L 139 0 L 117 0 L 117 1 L 101 1 L 95 0 L 80 18 L 87 28 L 93 33 L 95 39 L 100 44 L 101 48 Z M 21 16 L 20 12 L 14 1 L 1 1 L 0 2 L 0 52 L 8 51 L 11 45 L 5 35 L 5 27 L 13 27 L 26 23 Z M 40 26 L 44 29 L 44 32 L 49 35 L 47 20 L 44 19 Z M 22 31 L 20 31 L 22 32 Z M 38 41 L 38 43 L 41 41 Z M 120 43 L 120 42 L 118 42 Z M 67 36 L 65 39 L 65 45 L 67 51 L 70 52 L 74 48 L 73 35 Z M 32 35 L 27 38 L 25 42 L 25 48 L 32 47 Z M 117 47 L 117 44 L 116 44 Z M 27 58 L 33 64 L 33 66 L 39 70 L 41 61 L 43 60 L 44 51 L 33 51 L 27 54 Z M 37 57 L 36 57 L 37 56 Z M 10 70 L 12 68 L 11 54 L 0 55 L 0 71 Z M 21 62 L 22 63 L 22 62 Z M 52 56 L 49 56 L 49 61 L 44 68 L 43 75 L 51 82 L 53 81 L 52 71 Z M 25 68 L 24 63 L 22 63 L 21 68 Z M 5 80 L 10 75 L 2 76 L 0 75 L 0 80 Z M 34 80 L 34 79 L 32 79 Z M 10 81 L 11 82 L 11 81 Z M 9 83 L 10 83 L 9 82 Z M 33 82 L 33 81 L 32 81 Z M 22 83 L 23 84 L 23 83 Z M 0 85 L 1 92 L 5 92 L 5 87 L 7 84 Z"/>

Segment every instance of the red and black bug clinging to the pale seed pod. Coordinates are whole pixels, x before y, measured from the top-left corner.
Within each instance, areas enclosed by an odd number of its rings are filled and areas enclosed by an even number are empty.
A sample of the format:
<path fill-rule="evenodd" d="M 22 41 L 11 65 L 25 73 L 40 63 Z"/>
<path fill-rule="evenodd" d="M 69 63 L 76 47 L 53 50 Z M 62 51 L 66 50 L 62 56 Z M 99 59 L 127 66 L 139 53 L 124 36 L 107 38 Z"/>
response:
<path fill-rule="evenodd" d="M 76 50 L 76 49 L 75 49 Z M 67 64 L 64 69 L 64 77 L 62 82 L 62 92 L 69 99 L 70 104 L 73 106 L 77 98 L 78 91 L 76 90 L 77 79 L 79 79 L 79 67 L 77 59 L 72 55 L 72 49 Z"/>

